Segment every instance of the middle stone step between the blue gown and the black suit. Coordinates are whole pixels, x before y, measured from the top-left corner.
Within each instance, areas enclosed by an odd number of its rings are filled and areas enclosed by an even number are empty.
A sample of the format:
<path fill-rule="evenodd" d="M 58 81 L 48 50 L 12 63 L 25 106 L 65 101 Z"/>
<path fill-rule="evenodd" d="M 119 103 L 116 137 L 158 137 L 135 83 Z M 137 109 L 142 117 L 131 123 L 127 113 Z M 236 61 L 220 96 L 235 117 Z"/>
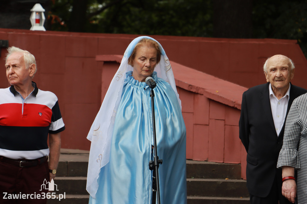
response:
<path fill-rule="evenodd" d="M 242 179 L 187 179 L 188 196 L 249 197 Z"/>

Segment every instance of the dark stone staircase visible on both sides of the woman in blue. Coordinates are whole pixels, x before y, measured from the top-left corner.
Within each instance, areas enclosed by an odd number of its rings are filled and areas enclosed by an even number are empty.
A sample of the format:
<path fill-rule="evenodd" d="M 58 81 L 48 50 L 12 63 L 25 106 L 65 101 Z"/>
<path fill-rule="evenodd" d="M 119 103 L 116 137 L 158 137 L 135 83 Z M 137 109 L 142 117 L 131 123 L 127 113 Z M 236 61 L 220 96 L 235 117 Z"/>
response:
<path fill-rule="evenodd" d="M 61 149 L 54 183 L 65 199 L 48 199 L 47 204 L 87 204 L 87 162 L 89 151 Z M 162 164 L 163 165 L 163 164 Z M 240 164 L 187 160 L 188 204 L 248 204 L 246 181 Z M 53 196 L 54 197 L 54 196 Z"/>

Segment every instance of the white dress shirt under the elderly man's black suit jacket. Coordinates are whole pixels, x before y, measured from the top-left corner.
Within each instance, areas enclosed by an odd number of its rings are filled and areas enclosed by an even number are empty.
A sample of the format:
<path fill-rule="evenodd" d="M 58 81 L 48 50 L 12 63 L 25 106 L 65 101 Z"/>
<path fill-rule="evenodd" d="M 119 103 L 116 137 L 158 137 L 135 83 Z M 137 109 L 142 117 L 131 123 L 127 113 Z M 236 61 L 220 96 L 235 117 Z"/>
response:
<path fill-rule="evenodd" d="M 286 112 L 288 108 L 288 102 L 290 97 L 290 84 L 289 88 L 281 99 L 278 100 L 278 98 L 274 95 L 271 84 L 269 85 L 269 91 L 270 91 L 270 102 L 271 102 L 271 110 L 275 125 L 275 130 L 277 135 L 279 135 L 280 130 L 282 129 L 282 126 L 284 124 L 285 118 L 286 118 Z"/>

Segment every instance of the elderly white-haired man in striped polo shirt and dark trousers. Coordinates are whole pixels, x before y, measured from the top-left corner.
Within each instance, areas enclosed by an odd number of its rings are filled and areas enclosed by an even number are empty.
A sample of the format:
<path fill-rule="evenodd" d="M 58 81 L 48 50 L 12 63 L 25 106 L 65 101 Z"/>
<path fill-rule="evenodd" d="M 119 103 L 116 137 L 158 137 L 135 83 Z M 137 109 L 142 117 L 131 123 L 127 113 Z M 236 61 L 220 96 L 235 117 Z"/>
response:
<path fill-rule="evenodd" d="M 46 203 L 41 185 L 56 175 L 65 129 L 58 100 L 32 81 L 37 68 L 28 51 L 9 47 L 5 66 L 11 86 L 0 89 L 0 203 Z"/>

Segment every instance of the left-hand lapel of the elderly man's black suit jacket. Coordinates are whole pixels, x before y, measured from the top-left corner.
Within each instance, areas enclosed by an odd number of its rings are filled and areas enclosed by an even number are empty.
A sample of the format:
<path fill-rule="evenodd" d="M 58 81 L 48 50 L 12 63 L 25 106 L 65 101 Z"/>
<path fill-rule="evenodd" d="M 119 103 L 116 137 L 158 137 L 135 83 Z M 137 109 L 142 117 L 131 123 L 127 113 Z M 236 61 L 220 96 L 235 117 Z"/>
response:
<path fill-rule="evenodd" d="M 265 88 L 262 90 L 262 93 L 260 94 L 260 100 L 261 100 L 261 103 L 262 103 L 263 110 L 264 110 L 266 117 L 268 119 L 268 122 L 270 123 L 270 125 L 271 125 L 272 129 L 274 130 L 274 133 L 276 134 L 276 137 L 277 137 L 277 133 L 276 133 L 275 125 L 274 125 L 274 120 L 273 120 L 273 116 L 272 116 L 272 110 L 271 110 L 269 83 L 267 83 Z"/>

